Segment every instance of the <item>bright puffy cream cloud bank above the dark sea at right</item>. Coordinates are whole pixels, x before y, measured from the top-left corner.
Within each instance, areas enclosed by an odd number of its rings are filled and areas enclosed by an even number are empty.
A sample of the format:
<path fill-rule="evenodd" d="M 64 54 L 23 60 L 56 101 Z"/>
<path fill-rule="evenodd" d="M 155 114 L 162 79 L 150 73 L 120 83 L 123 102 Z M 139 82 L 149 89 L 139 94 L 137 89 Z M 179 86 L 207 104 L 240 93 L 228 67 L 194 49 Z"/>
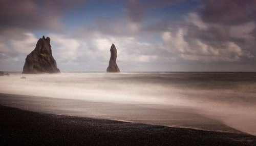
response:
<path fill-rule="evenodd" d="M 161 35 L 162 49 L 171 52 L 181 60 L 203 61 L 203 62 L 237 62 L 241 56 L 253 57 L 248 51 L 244 51 L 234 42 L 227 41 L 220 47 L 214 47 L 203 43 L 195 38 L 189 42 L 184 39 L 184 30 L 179 28 L 176 34 L 165 32 Z"/>

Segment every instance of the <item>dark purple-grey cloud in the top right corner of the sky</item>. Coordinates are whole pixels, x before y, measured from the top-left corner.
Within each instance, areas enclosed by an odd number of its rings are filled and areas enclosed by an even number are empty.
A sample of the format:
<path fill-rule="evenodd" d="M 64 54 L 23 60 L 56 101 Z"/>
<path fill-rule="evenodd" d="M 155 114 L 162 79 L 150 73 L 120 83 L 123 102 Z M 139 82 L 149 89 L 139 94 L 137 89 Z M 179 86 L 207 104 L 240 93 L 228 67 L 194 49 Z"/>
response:
<path fill-rule="evenodd" d="M 254 0 L 207 0 L 201 11 L 204 22 L 227 25 L 256 21 Z"/>

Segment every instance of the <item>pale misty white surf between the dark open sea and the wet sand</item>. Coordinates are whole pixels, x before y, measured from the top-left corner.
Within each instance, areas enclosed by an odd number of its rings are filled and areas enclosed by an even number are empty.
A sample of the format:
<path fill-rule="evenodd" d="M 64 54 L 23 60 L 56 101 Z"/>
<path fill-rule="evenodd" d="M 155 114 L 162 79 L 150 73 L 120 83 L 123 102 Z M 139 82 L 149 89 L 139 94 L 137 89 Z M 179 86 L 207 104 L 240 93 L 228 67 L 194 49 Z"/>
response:
<path fill-rule="evenodd" d="M 246 92 L 243 87 L 239 92 L 232 89 L 195 89 L 191 87 L 197 86 L 193 82 L 181 82 L 179 86 L 164 80 L 162 77 L 172 78 L 172 74 L 166 74 L 11 73 L 10 77 L 0 77 L 0 93 L 93 102 L 186 106 L 230 127 L 256 135 L 256 100 L 251 100 L 256 97 L 254 93 Z M 20 79 L 22 76 L 27 79 Z"/>

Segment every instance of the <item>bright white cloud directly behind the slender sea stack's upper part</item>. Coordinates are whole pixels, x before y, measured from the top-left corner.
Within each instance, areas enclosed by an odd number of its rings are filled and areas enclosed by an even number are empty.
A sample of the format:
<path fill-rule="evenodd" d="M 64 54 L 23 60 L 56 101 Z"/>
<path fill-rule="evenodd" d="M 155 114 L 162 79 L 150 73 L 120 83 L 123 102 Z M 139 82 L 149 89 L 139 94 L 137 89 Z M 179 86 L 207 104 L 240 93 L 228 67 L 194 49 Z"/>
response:
<path fill-rule="evenodd" d="M 156 55 L 148 54 L 148 52 L 155 49 L 152 44 L 138 42 L 133 37 L 97 35 L 92 42 L 97 49 L 95 53 L 101 54 L 101 57 L 107 62 L 110 59 L 109 50 L 112 44 L 115 44 L 117 48 L 117 62 L 139 63 L 157 59 Z"/>

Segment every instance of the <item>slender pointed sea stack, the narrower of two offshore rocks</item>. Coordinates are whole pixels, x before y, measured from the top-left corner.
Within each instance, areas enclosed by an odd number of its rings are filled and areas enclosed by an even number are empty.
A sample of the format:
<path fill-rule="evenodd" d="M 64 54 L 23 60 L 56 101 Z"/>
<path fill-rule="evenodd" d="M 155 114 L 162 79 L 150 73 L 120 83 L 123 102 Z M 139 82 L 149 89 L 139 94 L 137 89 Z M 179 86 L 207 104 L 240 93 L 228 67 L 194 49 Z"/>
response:
<path fill-rule="evenodd" d="M 110 65 L 106 69 L 106 72 L 120 72 L 120 70 L 116 64 L 117 51 L 116 51 L 116 46 L 114 44 L 112 44 L 112 46 L 110 48 L 110 52 L 111 52 Z"/>

